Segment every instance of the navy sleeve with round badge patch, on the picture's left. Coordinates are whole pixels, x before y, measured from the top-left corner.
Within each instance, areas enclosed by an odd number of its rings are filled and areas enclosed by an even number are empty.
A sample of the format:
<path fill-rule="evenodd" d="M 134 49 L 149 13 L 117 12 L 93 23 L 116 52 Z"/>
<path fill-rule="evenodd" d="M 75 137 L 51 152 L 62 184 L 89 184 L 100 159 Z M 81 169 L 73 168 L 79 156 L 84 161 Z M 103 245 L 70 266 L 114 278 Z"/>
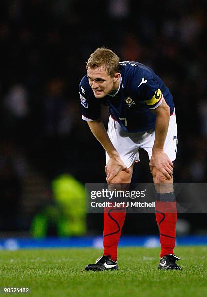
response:
<path fill-rule="evenodd" d="M 79 84 L 79 96 L 81 103 L 82 119 L 85 121 L 94 121 L 101 116 L 101 104 L 90 90 L 87 78 L 83 78 Z"/>

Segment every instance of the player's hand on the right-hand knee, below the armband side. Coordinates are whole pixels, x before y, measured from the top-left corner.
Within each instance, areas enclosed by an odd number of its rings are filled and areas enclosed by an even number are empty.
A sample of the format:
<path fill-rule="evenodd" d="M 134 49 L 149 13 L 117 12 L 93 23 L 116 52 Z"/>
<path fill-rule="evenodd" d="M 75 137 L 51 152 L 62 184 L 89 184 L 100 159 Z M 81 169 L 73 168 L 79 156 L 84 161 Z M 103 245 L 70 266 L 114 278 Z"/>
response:
<path fill-rule="evenodd" d="M 162 152 L 154 152 L 152 154 L 150 163 L 150 172 L 152 173 L 153 167 L 156 167 L 164 176 L 170 180 L 173 176 L 173 162 L 168 158 L 168 156 Z"/>

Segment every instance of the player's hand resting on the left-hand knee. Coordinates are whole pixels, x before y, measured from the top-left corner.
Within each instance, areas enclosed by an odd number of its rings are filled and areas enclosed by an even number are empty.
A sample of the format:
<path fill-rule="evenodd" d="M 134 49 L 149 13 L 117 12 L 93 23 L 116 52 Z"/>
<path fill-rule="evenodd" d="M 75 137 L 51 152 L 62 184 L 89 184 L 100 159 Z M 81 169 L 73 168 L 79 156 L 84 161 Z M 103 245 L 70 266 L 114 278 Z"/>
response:
<path fill-rule="evenodd" d="M 107 165 L 105 166 L 106 181 L 108 184 L 111 183 L 113 178 L 120 172 L 126 171 L 130 173 L 130 170 L 126 167 L 120 157 L 110 158 Z"/>

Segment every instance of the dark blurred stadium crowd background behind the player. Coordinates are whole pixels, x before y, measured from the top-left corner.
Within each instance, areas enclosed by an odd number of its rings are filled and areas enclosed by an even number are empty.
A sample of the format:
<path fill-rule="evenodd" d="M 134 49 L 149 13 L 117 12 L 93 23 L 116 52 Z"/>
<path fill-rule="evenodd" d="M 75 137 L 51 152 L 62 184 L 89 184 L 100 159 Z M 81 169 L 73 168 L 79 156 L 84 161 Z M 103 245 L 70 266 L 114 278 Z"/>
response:
<path fill-rule="evenodd" d="M 85 214 L 84 184 L 105 182 L 105 155 L 81 119 L 78 94 L 98 46 L 152 67 L 164 80 L 179 129 L 174 181 L 207 182 L 205 6 L 205 0 L 1 1 L 0 238 L 102 234 L 102 214 Z M 151 182 L 144 152 L 133 181 Z M 178 218 L 178 235 L 207 235 L 206 214 Z M 128 214 L 122 233 L 157 234 L 155 214 Z M 0 248 L 7 248 L 4 241 Z"/>

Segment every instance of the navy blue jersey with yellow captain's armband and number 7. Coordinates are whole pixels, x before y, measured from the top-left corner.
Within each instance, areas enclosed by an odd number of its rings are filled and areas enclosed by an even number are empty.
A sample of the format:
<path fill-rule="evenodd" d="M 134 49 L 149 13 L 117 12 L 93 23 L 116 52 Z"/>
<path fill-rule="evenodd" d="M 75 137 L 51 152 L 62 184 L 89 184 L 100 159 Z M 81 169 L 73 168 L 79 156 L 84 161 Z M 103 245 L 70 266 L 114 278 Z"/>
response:
<path fill-rule="evenodd" d="M 155 128 L 157 108 L 164 97 L 174 110 L 173 97 L 163 81 L 150 69 L 138 62 L 120 62 L 120 85 L 113 95 L 98 99 L 94 96 L 85 75 L 79 84 L 82 118 L 97 120 L 101 116 L 101 104 L 109 106 L 109 113 L 127 132 L 144 132 Z"/>

